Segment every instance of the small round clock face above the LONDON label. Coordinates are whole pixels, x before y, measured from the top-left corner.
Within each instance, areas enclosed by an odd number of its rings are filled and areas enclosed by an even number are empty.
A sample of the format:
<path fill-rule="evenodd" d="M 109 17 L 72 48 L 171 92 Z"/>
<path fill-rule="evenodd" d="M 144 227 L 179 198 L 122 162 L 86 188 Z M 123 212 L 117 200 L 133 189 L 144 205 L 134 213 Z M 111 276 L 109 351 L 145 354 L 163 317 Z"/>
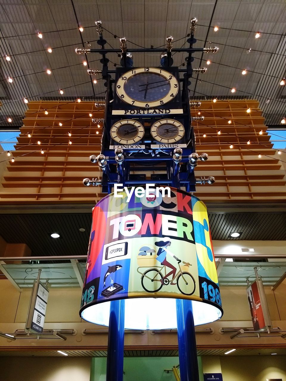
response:
<path fill-rule="evenodd" d="M 110 134 L 112 139 L 120 144 L 133 144 L 143 138 L 144 127 L 136 120 L 124 119 L 114 123 Z"/>

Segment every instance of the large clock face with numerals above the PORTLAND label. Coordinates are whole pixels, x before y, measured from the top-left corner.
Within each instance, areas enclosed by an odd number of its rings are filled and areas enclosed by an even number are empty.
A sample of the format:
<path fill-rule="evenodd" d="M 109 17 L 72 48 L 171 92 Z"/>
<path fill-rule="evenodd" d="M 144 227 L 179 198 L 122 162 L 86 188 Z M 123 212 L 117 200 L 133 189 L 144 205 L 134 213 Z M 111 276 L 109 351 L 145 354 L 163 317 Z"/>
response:
<path fill-rule="evenodd" d="M 157 67 L 130 70 L 116 83 L 116 92 L 122 101 L 141 108 L 162 106 L 171 101 L 178 90 L 174 75 Z"/>

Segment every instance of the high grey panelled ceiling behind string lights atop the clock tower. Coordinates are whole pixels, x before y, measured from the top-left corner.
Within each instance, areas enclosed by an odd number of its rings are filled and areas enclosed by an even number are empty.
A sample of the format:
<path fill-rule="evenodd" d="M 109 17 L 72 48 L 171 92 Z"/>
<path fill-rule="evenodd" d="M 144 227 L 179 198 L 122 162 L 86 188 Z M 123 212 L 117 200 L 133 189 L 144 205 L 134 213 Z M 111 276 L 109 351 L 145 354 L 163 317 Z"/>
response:
<path fill-rule="evenodd" d="M 193 67 L 212 63 L 204 75 L 195 75 L 190 95 L 202 98 L 257 98 L 267 125 L 280 124 L 285 113 L 286 86 L 286 7 L 284 0 L 2 0 L 0 4 L 0 126 L 21 125 L 26 110 L 23 98 L 30 100 L 104 96 L 102 80 L 94 85 L 87 68 L 101 69 L 96 54 L 75 54 L 76 47 L 96 48 L 98 34 L 94 21 L 101 19 L 108 47 L 119 48 L 118 37 L 125 36 L 131 50 L 137 45 L 164 46 L 172 35 L 174 48 L 182 47 L 196 17 L 196 47 L 212 42 L 217 54 L 194 54 Z M 79 31 L 79 26 L 84 31 Z M 218 32 L 213 27 L 219 26 Z M 263 32 L 255 38 L 255 32 Z M 37 33 L 41 32 L 40 39 Z M 135 45 L 137 44 L 137 45 Z M 185 45 L 185 47 L 188 44 Z M 52 53 L 47 48 L 53 49 Z M 246 54 L 251 48 L 251 52 Z M 6 54 L 11 56 L 8 62 Z M 116 53 L 108 54 L 110 67 L 119 64 Z M 184 62 L 183 53 L 174 53 L 174 66 Z M 154 53 L 134 54 L 134 66 L 159 66 Z M 46 73 L 51 69 L 51 75 Z M 248 70 L 241 75 L 241 70 Z M 9 83 L 7 78 L 13 78 Z M 201 82 L 198 81 L 201 79 Z M 237 89 L 231 97 L 230 89 Z M 270 102 L 266 103 L 270 98 Z M 11 117 L 12 123 L 6 122 Z"/>

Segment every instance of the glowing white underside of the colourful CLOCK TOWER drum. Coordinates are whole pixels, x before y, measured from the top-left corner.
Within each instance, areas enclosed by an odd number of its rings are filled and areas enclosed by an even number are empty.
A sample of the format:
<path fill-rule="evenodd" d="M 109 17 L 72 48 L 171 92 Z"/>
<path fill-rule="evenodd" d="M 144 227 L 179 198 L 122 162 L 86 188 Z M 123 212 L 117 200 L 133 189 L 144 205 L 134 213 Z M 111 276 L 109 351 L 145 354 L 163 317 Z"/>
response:
<path fill-rule="evenodd" d="M 212 323 L 220 319 L 222 311 L 212 304 L 192 301 L 194 325 Z M 109 323 L 110 302 L 86 307 L 81 317 L 90 323 Z M 125 299 L 125 329 L 162 330 L 177 328 L 176 299 L 132 298 Z"/>

